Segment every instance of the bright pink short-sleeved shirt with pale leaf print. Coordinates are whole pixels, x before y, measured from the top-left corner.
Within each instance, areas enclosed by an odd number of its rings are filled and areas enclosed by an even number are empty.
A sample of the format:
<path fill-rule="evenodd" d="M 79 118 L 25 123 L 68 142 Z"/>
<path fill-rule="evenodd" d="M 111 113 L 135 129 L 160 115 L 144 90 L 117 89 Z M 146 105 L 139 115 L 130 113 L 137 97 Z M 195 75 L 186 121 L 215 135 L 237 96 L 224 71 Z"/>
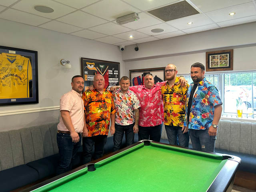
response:
<path fill-rule="evenodd" d="M 161 95 L 161 86 L 164 82 L 156 83 L 148 89 L 145 85 L 130 87 L 140 100 L 140 120 L 142 127 L 157 126 L 164 121 L 164 106 Z"/>

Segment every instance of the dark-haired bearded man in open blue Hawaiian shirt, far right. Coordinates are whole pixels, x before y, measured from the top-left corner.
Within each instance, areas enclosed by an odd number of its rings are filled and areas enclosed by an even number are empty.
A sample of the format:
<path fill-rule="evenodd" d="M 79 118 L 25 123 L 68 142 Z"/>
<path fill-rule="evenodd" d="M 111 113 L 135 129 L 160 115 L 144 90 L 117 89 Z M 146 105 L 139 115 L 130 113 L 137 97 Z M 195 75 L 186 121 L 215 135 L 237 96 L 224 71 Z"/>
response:
<path fill-rule="evenodd" d="M 194 149 L 214 152 L 222 101 L 217 88 L 204 77 L 204 65 L 194 63 L 190 69 L 193 83 L 188 88 L 184 127 Z"/>

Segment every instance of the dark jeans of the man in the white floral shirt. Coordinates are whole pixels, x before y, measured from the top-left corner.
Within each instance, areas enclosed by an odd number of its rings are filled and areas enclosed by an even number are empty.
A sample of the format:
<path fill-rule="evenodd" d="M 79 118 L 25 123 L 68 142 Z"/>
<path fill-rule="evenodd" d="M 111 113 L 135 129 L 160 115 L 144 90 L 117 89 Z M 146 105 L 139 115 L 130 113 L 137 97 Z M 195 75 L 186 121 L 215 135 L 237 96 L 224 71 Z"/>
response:
<path fill-rule="evenodd" d="M 121 148 L 124 132 L 125 132 L 126 146 L 129 146 L 134 143 L 134 132 L 133 132 L 134 124 L 135 123 L 130 124 L 130 125 L 115 124 L 116 131 L 115 131 L 114 137 L 113 137 L 113 141 L 114 141 L 113 151 L 117 151 Z"/>

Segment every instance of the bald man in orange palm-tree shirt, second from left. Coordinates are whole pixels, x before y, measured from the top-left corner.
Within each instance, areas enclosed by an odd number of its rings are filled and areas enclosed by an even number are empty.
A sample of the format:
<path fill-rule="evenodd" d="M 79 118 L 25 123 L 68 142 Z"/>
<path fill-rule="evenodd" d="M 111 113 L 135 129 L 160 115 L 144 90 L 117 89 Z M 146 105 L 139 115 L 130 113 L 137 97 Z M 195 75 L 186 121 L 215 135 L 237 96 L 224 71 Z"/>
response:
<path fill-rule="evenodd" d="M 86 126 L 83 129 L 83 163 L 92 160 L 94 146 L 94 159 L 102 157 L 107 141 L 111 120 L 110 133 L 115 133 L 115 106 L 113 95 L 104 89 L 105 80 L 101 74 L 96 74 L 93 79 L 94 90 L 83 93 Z M 88 136 L 86 136 L 88 133 Z"/>

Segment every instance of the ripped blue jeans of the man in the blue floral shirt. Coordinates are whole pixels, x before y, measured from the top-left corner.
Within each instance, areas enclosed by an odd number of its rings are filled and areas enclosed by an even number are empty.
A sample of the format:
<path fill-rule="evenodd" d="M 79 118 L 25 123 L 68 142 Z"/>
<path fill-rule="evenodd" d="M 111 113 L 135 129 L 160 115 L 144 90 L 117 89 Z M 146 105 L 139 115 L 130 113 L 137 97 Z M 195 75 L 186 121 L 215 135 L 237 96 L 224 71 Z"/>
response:
<path fill-rule="evenodd" d="M 208 129 L 189 129 L 189 136 L 194 149 L 214 152 L 216 136 L 209 136 Z"/>

